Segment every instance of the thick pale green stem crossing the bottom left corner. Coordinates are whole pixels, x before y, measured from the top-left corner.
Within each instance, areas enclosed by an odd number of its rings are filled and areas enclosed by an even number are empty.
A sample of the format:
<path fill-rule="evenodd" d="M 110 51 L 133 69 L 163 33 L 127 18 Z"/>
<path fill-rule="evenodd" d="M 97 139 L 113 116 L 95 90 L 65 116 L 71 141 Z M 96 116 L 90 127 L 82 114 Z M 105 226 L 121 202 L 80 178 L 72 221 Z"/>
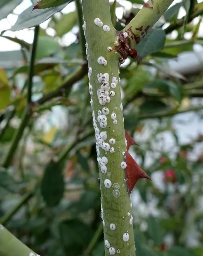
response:
<path fill-rule="evenodd" d="M 0 224 L 0 255 L 1 256 L 37 256 L 34 251 L 28 248 L 15 236 L 13 236 L 4 226 Z"/>

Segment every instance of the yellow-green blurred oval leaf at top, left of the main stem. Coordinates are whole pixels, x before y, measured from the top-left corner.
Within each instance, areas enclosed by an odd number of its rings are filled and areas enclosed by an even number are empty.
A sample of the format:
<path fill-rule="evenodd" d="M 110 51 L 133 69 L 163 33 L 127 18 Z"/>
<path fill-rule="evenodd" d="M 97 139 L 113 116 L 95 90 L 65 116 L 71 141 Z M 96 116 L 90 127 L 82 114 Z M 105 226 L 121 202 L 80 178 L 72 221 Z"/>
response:
<path fill-rule="evenodd" d="M 62 16 L 62 18 L 57 21 L 54 29 L 59 37 L 68 33 L 73 26 L 77 24 L 77 13 L 71 12 Z"/>

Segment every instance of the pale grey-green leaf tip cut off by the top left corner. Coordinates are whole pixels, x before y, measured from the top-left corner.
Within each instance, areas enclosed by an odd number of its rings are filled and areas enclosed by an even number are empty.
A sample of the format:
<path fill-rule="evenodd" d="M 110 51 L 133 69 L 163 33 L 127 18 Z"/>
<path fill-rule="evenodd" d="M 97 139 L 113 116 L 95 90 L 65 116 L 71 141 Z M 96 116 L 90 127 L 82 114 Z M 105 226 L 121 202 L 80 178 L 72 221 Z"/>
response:
<path fill-rule="evenodd" d="M 1 0 L 0 1 L 0 20 L 6 18 L 22 0 Z"/>

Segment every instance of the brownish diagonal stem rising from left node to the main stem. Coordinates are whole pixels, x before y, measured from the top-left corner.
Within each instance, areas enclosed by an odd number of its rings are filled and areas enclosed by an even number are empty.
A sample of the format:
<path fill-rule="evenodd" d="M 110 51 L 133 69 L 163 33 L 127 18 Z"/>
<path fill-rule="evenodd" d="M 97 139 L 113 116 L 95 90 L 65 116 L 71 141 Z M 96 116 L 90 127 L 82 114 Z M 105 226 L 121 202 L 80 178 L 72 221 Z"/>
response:
<path fill-rule="evenodd" d="M 35 105 L 42 105 L 45 102 L 51 100 L 54 97 L 62 96 L 63 91 L 70 89 L 72 85 L 82 79 L 87 74 L 87 64 L 84 64 L 83 66 L 77 68 L 75 71 L 73 71 L 64 81 L 63 85 L 60 86 L 57 90 L 47 93 L 44 96 L 41 97 L 38 101 L 35 101 Z"/>

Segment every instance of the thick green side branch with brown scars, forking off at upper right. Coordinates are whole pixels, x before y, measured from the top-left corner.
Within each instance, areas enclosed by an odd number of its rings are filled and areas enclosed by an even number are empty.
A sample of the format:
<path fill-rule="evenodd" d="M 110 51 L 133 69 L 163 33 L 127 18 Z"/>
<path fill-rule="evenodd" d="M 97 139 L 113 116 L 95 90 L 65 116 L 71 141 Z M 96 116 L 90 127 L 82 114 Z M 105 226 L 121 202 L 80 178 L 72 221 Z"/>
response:
<path fill-rule="evenodd" d="M 153 27 L 166 9 L 172 4 L 173 0 L 149 0 L 144 3 L 142 9 L 130 21 L 123 31 L 133 32 L 133 39 L 130 38 L 131 47 L 135 48 L 137 43 L 142 40 L 148 29 Z"/>

